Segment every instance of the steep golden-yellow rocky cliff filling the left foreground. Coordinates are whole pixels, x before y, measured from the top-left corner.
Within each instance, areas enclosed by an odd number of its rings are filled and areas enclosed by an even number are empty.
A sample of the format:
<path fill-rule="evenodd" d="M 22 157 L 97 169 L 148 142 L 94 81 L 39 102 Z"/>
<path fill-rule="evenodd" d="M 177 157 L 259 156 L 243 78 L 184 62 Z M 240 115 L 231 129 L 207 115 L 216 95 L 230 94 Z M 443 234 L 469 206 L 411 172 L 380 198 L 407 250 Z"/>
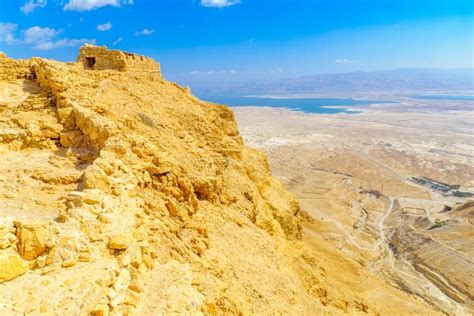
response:
<path fill-rule="evenodd" d="M 339 260 L 302 241 L 298 202 L 226 106 L 149 71 L 0 65 L 1 314 L 426 308 L 331 285 L 321 261 Z"/>

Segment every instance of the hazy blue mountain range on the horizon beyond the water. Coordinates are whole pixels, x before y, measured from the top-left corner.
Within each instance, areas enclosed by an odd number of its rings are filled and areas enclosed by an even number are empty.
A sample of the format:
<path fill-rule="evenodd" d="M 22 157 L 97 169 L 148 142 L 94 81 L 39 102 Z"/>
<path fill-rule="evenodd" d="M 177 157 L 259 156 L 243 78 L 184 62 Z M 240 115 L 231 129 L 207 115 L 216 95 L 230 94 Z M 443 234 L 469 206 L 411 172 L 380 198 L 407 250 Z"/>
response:
<path fill-rule="evenodd" d="M 201 95 L 472 91 L 473 69 L 409 68 L 244 82 L 182 82 Z"/>

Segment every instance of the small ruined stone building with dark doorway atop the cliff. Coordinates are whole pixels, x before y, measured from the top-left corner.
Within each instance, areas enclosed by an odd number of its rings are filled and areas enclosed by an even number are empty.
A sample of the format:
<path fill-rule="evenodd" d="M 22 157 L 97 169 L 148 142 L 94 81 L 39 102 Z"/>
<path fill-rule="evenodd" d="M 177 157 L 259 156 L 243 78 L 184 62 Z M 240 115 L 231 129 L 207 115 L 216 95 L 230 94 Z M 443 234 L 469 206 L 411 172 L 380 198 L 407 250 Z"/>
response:
<path fill-rule="evenodd" d="M 160 64 L 145 56 L 91 44 L 85 44 L 79 52 L 77 61 L 84 69 L 160 73 Z"/>

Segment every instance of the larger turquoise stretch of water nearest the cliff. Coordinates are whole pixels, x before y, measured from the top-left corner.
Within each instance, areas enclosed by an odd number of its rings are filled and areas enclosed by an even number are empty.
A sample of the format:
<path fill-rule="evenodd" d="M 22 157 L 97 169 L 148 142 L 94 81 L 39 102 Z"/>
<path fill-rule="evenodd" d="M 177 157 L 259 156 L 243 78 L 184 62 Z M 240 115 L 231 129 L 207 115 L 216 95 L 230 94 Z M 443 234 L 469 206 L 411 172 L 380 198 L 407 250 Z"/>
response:
<path fill-rule="evenodd" d="M 288 108 L 290 110 L 307 113 L 359 113 L 346 109 L 326 108 L 326 106 L 363 106 L 375 103 L 391 103 L 388 101 L 354 100 L 351 98 L 256 98 L 256 97 L 229 97 L 229 96 L 200 96 L 201 100 L 233 106 L 269 106 L 274 108 Z"/>

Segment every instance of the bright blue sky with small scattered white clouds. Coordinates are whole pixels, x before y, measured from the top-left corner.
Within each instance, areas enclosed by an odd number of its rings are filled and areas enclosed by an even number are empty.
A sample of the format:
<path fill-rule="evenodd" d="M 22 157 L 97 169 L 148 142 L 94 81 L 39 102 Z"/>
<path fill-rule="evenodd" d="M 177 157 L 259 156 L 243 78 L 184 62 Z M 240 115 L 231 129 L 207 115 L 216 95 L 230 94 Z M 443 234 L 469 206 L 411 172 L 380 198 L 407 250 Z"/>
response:
<path fill-rule="evenodd" d="M 464 0 L 0 0 L 0 50 L 74 60 L 84 42 L 145 54 L 173 80 L 473 64 Z"/>

